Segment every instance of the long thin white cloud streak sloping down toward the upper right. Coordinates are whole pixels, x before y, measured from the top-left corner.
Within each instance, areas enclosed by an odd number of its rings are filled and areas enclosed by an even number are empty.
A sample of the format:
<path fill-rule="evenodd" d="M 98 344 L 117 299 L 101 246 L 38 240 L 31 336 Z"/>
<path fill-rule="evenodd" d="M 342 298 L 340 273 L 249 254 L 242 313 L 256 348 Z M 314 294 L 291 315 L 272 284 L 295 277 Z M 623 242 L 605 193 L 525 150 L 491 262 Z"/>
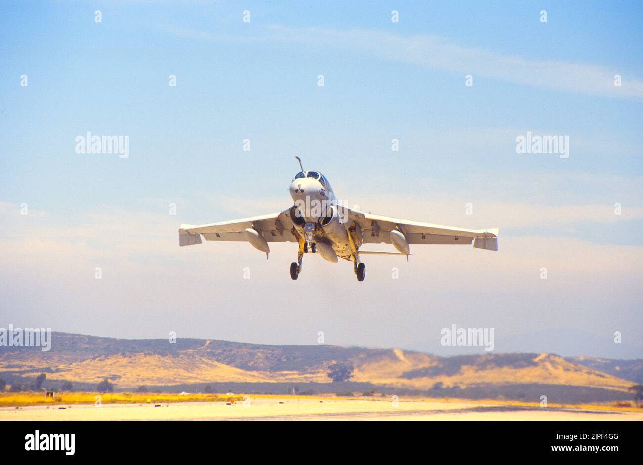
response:
<path fill-rule="evenodd" d="M 511 82 L 530 87 L 595 96 L 643 98 L 643 80 L 622 76 L 615 87 L 614 76 L 621 70 L 602 65 L 530 60 L 503 55 L 476 47 L 460 46 L 435 35 L 398 35 L 373 30 L 328 28 L 287 28 L 269 26 L 255 35 L 222 35 L 194 29 L 163 26 L 178 37 L 213 42 L 299 42 L 362 51 L 385 60 Z"/>

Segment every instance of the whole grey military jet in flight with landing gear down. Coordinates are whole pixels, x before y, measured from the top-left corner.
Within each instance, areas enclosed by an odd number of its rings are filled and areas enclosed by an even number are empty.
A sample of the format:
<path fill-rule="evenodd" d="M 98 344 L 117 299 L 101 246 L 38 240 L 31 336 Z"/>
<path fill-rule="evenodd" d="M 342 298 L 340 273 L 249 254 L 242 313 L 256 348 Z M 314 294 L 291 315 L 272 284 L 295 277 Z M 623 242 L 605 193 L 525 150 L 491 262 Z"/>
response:
<path fill-rule="evenodd" d="M 363 281 L 366 266 L 363 255 L 408 255 L 415 244 L 468 244 L 485 250 L 498 250 L 498 228 L 472 230 L 441 224 L 374 215 L 340 205 L 328 178 L 320 171 L 301 171 L 290 183 L 294 205 L 283 212 L 210 224 L 181 224 L 179 246 L 206 241 L 247 241 L 258 250 L 270 251 L 268 242 L 298 244 L 297 261 L 291 263 L 290 276 L 302 272 L 302 258 L 317 253 L 329 262 L 343 258 L 353 262 L 358 281 Z M 364 251 L 364 244 L 392 244 L 397 252 Z"/>

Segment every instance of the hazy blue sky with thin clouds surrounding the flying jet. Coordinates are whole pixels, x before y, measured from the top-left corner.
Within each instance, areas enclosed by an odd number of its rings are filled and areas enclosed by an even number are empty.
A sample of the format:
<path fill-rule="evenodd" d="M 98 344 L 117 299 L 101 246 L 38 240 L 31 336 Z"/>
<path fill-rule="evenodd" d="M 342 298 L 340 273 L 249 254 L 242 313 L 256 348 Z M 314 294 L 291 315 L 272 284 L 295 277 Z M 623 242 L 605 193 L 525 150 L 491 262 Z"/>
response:
<path fill-rule="evenodd" d="M 601 353 L 642 355 L 641 3 L 0 8 L 0 244 L 11 255 L 0 265 L 0 305 L 8 323 L 123 337 L 164 337 L 171 326 L 268 343 L 314 343 L 310 334 L 326 328 L 332 343 L 433 351 L 441 350 L 435 328 L 452 323 L 495 325 L 508 339 L 569 329 L 576 335 L 563 350 L 573 355 L 583 355 L 577 330 L 606 341 L 627 327 L 635 347 L 606 344 Z M 74 139 L 86 131 L 129 135 L 129 158 L 76 153 Z M 527 131 L 569 135 L 570 157 L 516 153 Z M 394 138 L 399 151 L 390 149 Z M 340 312 L 315 299 L 308 311 L 278 300 L 293 292 L 293 247 L 275 248 L 268 264 L 248 244 L 177 248 L 179 223 L 287 208 L 294 155 L 350 205 L 499 226 L 500 252 L 416 250 L 408 266 L 373 258 L 373 287 L 361 289 L 348 266 L 308 260 L 299 292 L 331 286 L 350 303 Z M 469 202 L 473 216 L 464 215 Z M 96 266 L 105 269 L 100 289 Z M 243 266 L 257 277 L 239 282 Z M 404 270 L 400 283 L 390 280 L 392 266 Z M 537 288 L 541 266 L 547 289 Z M 465 282 L 463 273 L 471 273 Z M 219 300 L 221 308 L 210 307 Z M 542 317 L 537 327 L 533 315 Z M 398 331 L 388 330 L 392 319 Z"/>

